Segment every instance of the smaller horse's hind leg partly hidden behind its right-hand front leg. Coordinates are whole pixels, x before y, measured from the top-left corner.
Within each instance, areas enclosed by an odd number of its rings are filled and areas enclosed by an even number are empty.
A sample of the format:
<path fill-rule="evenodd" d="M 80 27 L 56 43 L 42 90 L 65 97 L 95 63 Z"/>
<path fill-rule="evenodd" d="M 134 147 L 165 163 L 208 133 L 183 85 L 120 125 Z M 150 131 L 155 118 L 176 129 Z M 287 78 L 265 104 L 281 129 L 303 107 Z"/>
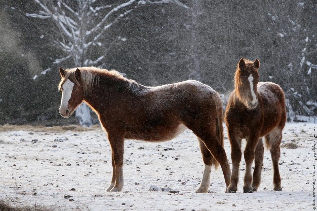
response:
<path fill-rule="evenodd" d="M 258 145 L 256 146 L 256 150 L 254 152 L 254 170 L 253 170 L 253 180 L 252 180 L 253 191 L 257 191 L 261 183 L 263 152 L 264 152 L 264 147 L 263 147 L 262 138 L 259 138 Z"/>

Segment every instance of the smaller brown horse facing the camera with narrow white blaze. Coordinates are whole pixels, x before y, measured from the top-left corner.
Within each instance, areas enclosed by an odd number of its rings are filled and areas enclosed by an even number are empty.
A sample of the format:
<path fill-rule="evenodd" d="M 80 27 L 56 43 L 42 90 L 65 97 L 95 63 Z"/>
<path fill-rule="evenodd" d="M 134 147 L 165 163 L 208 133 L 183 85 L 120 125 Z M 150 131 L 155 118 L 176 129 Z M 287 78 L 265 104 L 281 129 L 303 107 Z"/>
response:
<path fill-rule="evenodd" d="M 235 90 L 225 111 L 225 122 L 231 144 L 232 175 L 227 192 L 236 192 L 241 161 L 241 139 L 246 139 L 244 159 L 246 172 L 243 192 L 257 191 L 261 181 L 263 142 L 271 152 L 274 190 L 282 191 L 278 170 L 282 130 L 286 121 L 285 97 L 281 87 L 259 82 L 260 62 L 240 59 L 235 74 Z M 258 83 L 259 82 L 259 83 Z M 253 178 L 251 165 L 255 159 Z"/>

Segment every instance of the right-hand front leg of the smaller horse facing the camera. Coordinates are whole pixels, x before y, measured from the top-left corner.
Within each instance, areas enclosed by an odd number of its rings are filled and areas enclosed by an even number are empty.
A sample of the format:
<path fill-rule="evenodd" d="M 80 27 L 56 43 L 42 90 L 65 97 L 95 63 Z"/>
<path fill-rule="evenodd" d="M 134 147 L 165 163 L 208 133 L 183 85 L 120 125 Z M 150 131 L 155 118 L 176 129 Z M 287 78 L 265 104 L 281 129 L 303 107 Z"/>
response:
<path fill-rule="evenodd" d="M 256 135 L 251 135 L 246 139 L 247 144 L 244 150 L 244 160 L 246 162 L 246 173 L 244 175 L 244 185 L 243 192 L 244 193 L 252 193 L 252 172 L 251 167 L 254 160 L 254 151 L 259 142 L 259 137 Z"/>

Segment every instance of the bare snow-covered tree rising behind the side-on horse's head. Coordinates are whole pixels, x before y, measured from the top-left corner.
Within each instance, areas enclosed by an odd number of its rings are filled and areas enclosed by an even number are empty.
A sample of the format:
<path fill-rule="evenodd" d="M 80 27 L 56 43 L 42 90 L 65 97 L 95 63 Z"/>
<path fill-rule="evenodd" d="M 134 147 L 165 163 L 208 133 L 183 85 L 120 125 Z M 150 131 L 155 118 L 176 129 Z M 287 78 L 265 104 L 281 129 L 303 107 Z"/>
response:
<path fill-rule="evenodd" d="M 175 3 L 188 8 L 178 0 L 119 0 L 109 4 L 101 0 L 34 1 L 40 6 L 40 11 L 26 13 L 26 16 L 53 21 L 57 27 L 51 37 L 65 56 L 56 59 L 54 64 L 71 60 L 76 67 L 100 65 L 106 54 L 105 48 L 108 47 L 103 43 L 105 32 L 141 5 Z M 48 68 L 41 74 L 45 75 L 50 70 Z M 34 76 L 34 79 L 37 77 Z M 76 117 L 81 125 L 92 125 L 86 104 L 77 108 Z"/>

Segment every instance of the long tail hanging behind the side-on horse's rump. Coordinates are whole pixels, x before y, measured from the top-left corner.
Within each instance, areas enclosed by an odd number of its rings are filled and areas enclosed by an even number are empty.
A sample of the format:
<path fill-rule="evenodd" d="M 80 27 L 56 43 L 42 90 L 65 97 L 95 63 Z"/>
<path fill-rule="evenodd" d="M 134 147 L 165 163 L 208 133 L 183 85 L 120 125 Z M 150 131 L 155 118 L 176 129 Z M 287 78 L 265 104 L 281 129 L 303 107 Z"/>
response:
<path fill-rule="evenodd" d="M 218 93 L 213 95 L 213 100 L 216 105 L 216 114 L 217 114 L 216 137 L 217 137 L 217 140 L 220 142 L 221 146 L 224 147 L 223 125 L 222 125 L 222 122 L 223 122 L 222 100 Z M 219 163 L 216 161 L 215 158 L 213 158 L 213 164 L 214 164 L 214 168 L 218 169 Z"/>

